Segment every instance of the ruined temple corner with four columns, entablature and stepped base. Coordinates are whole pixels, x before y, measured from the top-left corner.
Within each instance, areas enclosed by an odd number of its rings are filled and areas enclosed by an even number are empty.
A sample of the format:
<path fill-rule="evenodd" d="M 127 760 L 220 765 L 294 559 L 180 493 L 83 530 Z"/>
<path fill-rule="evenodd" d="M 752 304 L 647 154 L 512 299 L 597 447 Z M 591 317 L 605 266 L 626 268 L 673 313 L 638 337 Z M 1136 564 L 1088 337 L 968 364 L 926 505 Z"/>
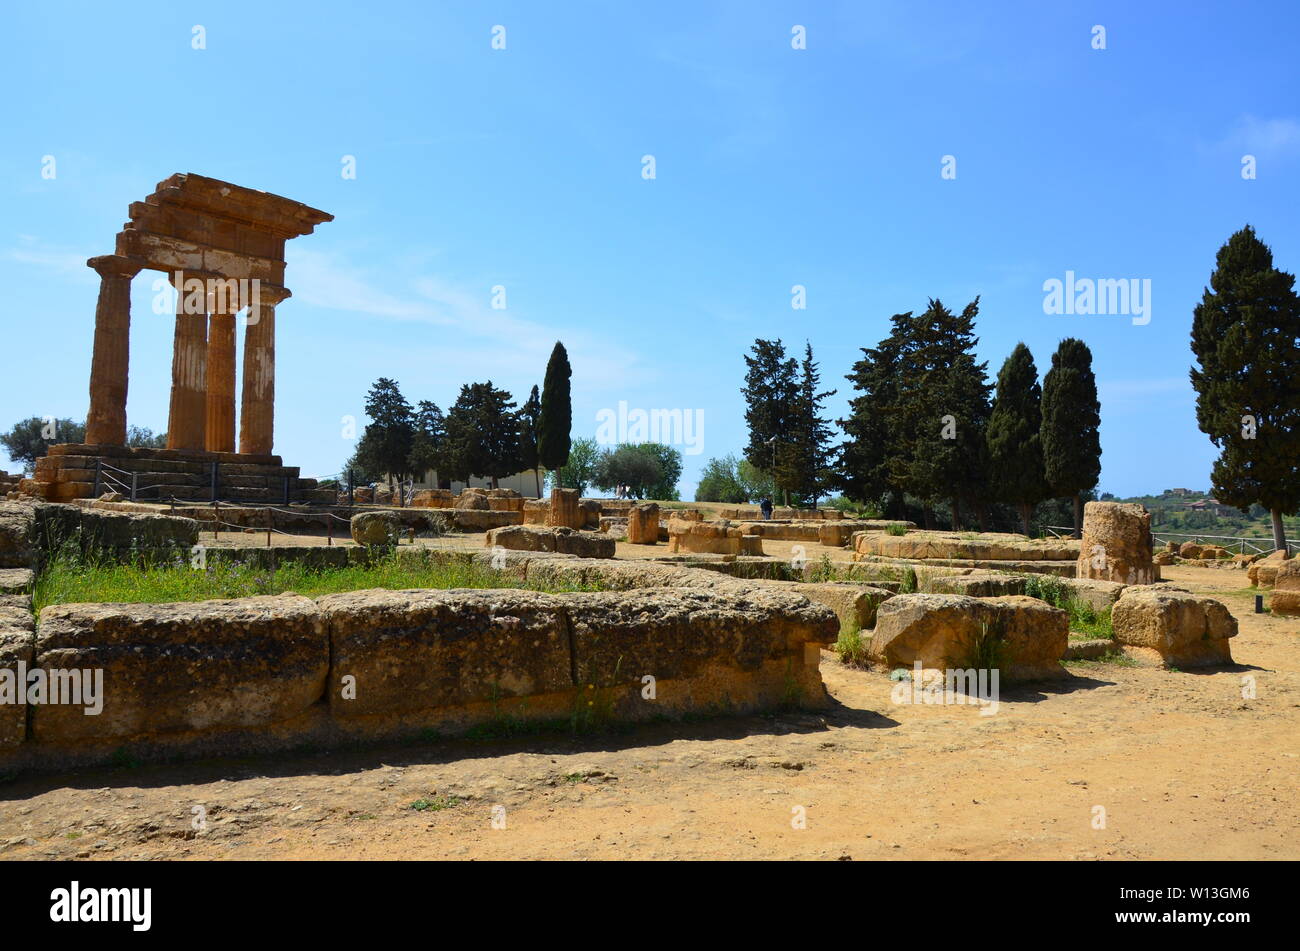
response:
<path fill-rule="evenodd" d="M 299 201 L 176 174 L 130 207 L 100 275 L 84 444 L 51 446 L 23 490 L 47 499 L 114 490 L 148 499 L 325 500 L 329 492 L 272 455 L 276 308 L 285 242 L 333 216 Z M 131 279 L 164 272 L 177 291 L 166 450 L 126 447 Z M 247 312 L 238 448 L 235 317 Z"/>

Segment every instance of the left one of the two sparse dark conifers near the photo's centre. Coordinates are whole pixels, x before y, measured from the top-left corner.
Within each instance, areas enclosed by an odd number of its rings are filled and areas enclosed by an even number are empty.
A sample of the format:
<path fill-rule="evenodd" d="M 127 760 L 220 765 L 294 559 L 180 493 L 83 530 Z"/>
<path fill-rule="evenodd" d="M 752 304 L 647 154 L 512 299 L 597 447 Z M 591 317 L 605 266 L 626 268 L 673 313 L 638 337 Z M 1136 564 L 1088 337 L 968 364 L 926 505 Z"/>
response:
<path fill-rule="evenodd" d="M 796 437 L 794 411 L 798 401 L 798 364 L 785 356 L 785 346 L 777 340 L 754 340 L 753 356 L 745 356 L 745 422 L 749 425 L 749 444 L 745 459 L 751 465 L 772 474 L 789 504 L 792 491 L 800 485 L 800 453 Z"/>

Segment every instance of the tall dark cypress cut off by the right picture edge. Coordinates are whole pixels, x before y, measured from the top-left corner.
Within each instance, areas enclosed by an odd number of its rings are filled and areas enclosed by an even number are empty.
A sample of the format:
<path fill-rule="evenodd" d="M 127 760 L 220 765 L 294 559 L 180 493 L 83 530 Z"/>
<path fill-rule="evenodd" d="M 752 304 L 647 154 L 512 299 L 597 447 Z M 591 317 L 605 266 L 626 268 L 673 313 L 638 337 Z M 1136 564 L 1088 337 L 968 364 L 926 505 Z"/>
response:
<path fill-rule="evenodd" d="M 1249 225 L 1218 251 L 1192 353 L 1196 422 L 1221 450 L 1214 495 L 1269 509 L 1273 544 L 1286 550 L 1282 516 L 1300 511 L 1300 298 Z"/>

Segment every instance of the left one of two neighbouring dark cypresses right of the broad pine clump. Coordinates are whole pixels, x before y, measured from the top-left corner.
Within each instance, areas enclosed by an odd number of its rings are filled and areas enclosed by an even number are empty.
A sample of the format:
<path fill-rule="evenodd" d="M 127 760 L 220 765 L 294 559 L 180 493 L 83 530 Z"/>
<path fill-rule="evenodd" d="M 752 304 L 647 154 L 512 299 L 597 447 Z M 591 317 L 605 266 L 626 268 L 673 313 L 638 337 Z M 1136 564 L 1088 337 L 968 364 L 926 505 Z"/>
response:
<path fill-rule="evenodd" d="M 1030 534 L 1034 507 L 1048 498 L 1043 472 L 1043 390 L 1034 355 L 1023 343 L 997 374 L 997 396 L 988 421 L 989 485 L 1000 501 L 1014 504 Z"/>

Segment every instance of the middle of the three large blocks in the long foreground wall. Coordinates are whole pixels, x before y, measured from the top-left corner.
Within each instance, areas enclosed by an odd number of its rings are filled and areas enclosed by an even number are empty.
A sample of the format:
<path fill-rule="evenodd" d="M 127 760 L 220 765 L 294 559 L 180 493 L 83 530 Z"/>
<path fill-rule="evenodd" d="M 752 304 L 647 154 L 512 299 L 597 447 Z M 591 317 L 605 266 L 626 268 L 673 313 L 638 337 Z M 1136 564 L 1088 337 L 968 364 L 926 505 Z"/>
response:
<path fill-rule="evenodd" d="M 350 591 L 318 602 L 337 718 L 571 690 L 563 602 L 533 591 Z M 344 677 L 355 678 L 346 699 Z"/>

